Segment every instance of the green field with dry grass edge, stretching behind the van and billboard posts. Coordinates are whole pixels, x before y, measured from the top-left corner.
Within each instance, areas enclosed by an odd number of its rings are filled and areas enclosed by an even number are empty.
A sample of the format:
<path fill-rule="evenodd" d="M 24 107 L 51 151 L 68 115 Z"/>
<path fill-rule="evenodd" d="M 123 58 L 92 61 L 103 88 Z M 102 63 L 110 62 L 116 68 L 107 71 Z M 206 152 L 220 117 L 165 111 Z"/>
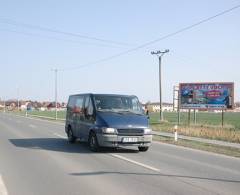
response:
<path fill-rule="evenodd" d="M 18 114 L 25 115 L 25 112 Z M 29 111 L 28 115 L 38 115 L 55 119 L 54 111 Z M 66 112 L 59 111 L 58 119 L 65 119 Z M 164 112 L 164 121 L 159 122 L 159 113 L 150 113 L 150 125 L 155 131 L 174 132 L 177 124 L 177 113 Z M 203 137 L 240 143 L 240 113 L 224 113 L 224 126 L 222 127 L 221 113 L 197 113 L 197 122 L 194 124 L 191 113 L 191 124 L 188 125 L 188 113 L 181 113 L 181 123 L 178 132 L 182 135 Z"/>

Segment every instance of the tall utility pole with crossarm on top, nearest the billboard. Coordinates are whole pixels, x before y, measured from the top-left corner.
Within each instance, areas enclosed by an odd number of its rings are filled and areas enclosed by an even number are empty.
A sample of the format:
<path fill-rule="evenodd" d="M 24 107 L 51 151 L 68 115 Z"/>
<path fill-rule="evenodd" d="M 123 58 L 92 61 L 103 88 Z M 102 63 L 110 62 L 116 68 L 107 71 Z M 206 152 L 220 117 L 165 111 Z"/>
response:
<path fill-rule="evenodd" d="M 168 53 L 169 50 L 166 49 L 165 51 L 152 51 L 152 55 L 157 55 L 159 60 L 159 100 L 160 100 L 160 121 L 163 121 L 163 112 L 162 112 L 162 56 L 165 53 Z"/>

